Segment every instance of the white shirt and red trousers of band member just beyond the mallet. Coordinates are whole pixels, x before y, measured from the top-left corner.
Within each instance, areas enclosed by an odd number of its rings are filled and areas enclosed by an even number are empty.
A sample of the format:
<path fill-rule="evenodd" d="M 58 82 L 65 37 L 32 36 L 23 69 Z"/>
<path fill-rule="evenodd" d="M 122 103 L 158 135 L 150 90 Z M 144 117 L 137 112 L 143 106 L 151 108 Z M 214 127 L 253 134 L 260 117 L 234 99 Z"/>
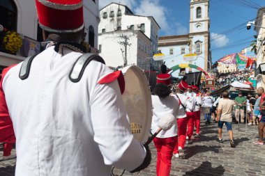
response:
<path fill-rule="evenodd" d="M 176 96 L 167 96 L 159 98 L 157 95 L 152 95 L 153 104 L 153 119 L 151 132 L 154 134 L 158 129 L 158 121 L 165 114 L 172 114 L 176 117 L 179 113 L 179 99 Z M 167 131 L 160 131 L 158 136 L 153 139 L 158 152 L 156 165 L 156 173 L 160 175 L 169 175 L 171 169 L 171 159 L 173 150 L 177 141 L 177 125 L 176 120 L 174 125 Z"/>

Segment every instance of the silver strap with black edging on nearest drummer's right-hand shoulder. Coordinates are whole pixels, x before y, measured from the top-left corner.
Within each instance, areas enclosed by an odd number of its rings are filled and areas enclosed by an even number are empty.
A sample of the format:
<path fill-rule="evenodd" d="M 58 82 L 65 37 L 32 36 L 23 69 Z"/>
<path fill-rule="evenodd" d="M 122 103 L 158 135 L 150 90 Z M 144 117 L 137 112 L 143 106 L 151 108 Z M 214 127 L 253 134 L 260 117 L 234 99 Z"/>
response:
<path fill-rule="evenodd" d="M 91 54 L 91 53 L 83 54 L 82 56 L 77 58 L 77 61 L 73 65 L 69 74 L 69 79 L 74 83 L 80 81 L 86 66 L 89 65 L 89 63 L 93 60 L 105 64 L 103 58 L 101 58 L 96 54 Z"/>

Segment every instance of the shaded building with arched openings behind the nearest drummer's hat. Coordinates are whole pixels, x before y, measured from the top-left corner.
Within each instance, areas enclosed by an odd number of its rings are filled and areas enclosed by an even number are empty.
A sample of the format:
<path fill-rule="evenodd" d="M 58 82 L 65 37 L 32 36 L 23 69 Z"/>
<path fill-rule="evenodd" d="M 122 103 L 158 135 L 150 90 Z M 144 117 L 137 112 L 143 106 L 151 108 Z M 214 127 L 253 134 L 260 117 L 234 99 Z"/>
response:
<path fill-rule="evenodd" d="M 27 56 L 40 51 L 43 38 L 36 14 L 33 0 L 0 1 L 0 25 L 8 31 L 17 31 L 23 39 L 22 48 L 16 55 L 8 54 L 1 45 L 3 41 L 0 41 L 0 72 L 3 67 L 20 63 Z M 98 0 L 84 1 L 84 27 L 87 34 L 85 41 L 91 47 L 98 46 L 98 15 Z M 0 34 L 3 31 L 0 30 Z"/>

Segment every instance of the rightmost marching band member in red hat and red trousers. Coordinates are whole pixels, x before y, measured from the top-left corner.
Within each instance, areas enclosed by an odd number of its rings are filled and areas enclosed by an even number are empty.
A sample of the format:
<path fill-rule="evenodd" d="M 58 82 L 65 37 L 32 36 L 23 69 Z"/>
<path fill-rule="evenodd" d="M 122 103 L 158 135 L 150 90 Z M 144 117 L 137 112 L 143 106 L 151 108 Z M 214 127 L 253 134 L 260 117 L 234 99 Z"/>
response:
<path fill-rule="evenodd" d="M 192 85 L 192 91 L 195 93 L 195 118 L 194 118 L 194 125 L 196 127 L 196 135 L 199 135 L 199 125 L 201 122 L 201 105 L 202 105 L 202 97 L 199 95 L 198 91 L 199 88 L 195 85 Z"/>

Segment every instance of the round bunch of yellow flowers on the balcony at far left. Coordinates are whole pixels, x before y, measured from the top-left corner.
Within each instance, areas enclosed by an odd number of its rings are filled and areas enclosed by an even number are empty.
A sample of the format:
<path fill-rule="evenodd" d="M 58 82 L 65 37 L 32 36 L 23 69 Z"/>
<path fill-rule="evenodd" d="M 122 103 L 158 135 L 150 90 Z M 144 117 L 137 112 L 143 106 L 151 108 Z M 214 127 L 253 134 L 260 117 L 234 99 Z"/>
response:
<path fill-rule="evenodd" d="M 3 37 L 3 45 L 6 50 L 15 54 L 22 47 L 22 38 L 15 31 L 8 31 Z"/>

